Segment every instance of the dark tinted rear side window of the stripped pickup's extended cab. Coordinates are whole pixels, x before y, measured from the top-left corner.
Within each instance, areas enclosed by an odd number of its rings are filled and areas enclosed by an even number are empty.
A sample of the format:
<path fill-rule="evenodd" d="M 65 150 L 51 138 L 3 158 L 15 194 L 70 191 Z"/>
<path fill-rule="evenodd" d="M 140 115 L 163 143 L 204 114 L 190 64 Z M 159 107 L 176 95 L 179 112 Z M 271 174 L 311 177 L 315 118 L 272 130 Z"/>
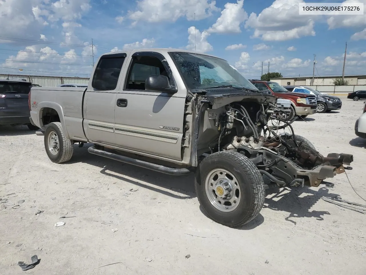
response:
<path fill-rule="evenodd" d="M 91 87 L 105 91 L 116 89 L 125 58 L 126 54 L 102 56 L 95 69 Z"/>

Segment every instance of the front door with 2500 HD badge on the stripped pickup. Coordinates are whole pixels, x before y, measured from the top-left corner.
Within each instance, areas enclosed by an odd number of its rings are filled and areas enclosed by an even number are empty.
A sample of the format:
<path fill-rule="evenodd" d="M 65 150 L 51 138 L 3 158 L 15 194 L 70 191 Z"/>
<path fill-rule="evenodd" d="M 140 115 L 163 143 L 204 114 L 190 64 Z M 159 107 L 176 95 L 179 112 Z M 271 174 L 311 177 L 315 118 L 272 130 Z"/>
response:
<path fill-rule="evenodd" d="M 128 150 L 182 160 L 186 89 L 176 94 L 145 89 L 146 78 L 153 74 L 176 85 L 174 77 L 180 76 L 177 70 L 172 73 L 173 61 L 157 52 L 135 52 L 128 63 L 115 101 L 116 142 Z"/>

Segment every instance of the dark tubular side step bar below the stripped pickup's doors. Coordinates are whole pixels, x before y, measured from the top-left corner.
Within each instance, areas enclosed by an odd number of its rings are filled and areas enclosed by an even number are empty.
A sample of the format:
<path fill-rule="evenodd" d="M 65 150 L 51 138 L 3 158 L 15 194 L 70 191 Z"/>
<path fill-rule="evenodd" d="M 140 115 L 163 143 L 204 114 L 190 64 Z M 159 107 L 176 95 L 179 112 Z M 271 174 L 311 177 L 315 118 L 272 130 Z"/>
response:
<path fill-rule="evenodd" d="M 98 150 L 95 146 L 91 146 L 88 148 L 88 152 L 94 155 L 100 155 L 101 157 L 114 159 L 116 161 L 125 162 L 128 164 L 136 165 L 142 168 L 147 168 L 153 171 L 161 172 L 168 175 L 182 176 L 191 173 L 187 168 L 169 168 L 163 165 L 154 164 L 151 162 L 141 161 L 139 159 L 125 157 L 123 155 L 117 155 L 113 153 L 109 153 L 107 151 Z"/>

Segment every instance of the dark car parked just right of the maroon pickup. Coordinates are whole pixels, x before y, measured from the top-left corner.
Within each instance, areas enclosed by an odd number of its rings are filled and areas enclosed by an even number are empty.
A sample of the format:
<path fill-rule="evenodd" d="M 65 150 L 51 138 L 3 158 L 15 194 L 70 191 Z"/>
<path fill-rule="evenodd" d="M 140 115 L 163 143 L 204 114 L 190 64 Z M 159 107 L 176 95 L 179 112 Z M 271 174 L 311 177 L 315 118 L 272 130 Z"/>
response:
<path fill-rule="evenodd" d="M 338 96 L 322 94 L 309 86 L 283 86 L 290 92 L 313 94 L 317 97 L 317 112 L 339 110 L 342 107 L 342 100 Z"/>

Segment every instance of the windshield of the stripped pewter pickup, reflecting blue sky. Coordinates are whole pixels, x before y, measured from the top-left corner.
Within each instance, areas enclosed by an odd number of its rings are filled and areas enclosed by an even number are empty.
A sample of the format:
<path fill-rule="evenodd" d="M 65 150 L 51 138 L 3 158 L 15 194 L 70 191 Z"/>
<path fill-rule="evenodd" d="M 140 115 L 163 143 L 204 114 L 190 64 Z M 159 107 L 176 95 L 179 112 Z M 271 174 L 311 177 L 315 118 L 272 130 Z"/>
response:
<path fill-rule="evenodd" d="M 223 59 L 188 52 L 171 52 L 189 89 L 217 86 L 259 90 Z M 196 77 L 197 73 L 197 77 Z"/>

